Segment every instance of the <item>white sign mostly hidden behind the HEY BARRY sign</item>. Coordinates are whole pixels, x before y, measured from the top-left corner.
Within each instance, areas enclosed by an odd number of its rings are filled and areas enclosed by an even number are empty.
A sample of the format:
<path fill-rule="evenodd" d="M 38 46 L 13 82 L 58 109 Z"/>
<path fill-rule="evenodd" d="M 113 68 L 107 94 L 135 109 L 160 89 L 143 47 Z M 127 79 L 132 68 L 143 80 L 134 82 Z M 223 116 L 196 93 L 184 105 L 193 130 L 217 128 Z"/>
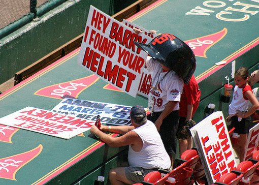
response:
<path fill-rule="evenodd" d="M 137 24 L 134 24 L 130 21 L 127 21 L 125 19 L 123 19 L 123 24 L 127 25 L 128 27 L 133 28 L 138 28 L 142 31 L 142 33 L 140 33 L 139 35 L 143 36 L 143 38 L 145 38 L 147 40 L 146 43 L 149 43 L 150 41 L 152 41 L 153 38 L 155 38 L 157 36 L 157 34 L 150 34 L 150 30 L 147 30 Z M 145 58 L 147 57 L 147 54 L 145 55 Z M 148 97 L 149 94 L 149 89 L 150 89 L 150 85 L 152 84 L 152 73 L 149 72 L 147 70 L 147 67 L 145 66 L 145 68 L 143 69 L 143 72 L 141 74 L 141 79 L 140 79 L 140 84 L 138 87 L 138 95 L 141 95 L 143 97 Z"/>

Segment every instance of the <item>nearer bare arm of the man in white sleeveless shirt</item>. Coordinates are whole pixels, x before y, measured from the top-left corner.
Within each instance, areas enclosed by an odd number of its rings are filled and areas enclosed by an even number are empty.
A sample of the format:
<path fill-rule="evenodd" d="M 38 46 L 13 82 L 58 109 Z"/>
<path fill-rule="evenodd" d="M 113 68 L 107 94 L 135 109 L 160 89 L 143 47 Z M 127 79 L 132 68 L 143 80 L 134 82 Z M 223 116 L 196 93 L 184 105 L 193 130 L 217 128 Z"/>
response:
<path fill-rule="evenodd" d="M 116 127 L 123 127 L 123 126 L 116 126 Z M 103 133 L 96 126 L 93 125 L 90 129 L 90 132 L 98 136 L 102 141 L 104 141 L 106 144 L 108 144 L 111 147 L 120 147 L 120 146 L 135 144 L 139 140 L 141 140 L 139 135 L 134 131 L 127 132 L 126 134 L 120 137 L 114 138 L 108 134 Z"/>

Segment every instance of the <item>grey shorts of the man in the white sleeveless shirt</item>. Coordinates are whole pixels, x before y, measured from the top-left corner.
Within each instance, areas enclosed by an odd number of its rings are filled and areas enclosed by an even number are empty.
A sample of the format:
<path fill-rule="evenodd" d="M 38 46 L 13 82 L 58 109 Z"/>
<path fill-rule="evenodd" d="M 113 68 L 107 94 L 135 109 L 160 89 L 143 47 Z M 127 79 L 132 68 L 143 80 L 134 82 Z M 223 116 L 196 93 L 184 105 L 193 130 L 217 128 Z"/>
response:
<path fill-rule="evenodd" d="M 145 169 L 141 167 L 125 167 L 126 178 L 131 181 L 131 183 L 140 183 L 144 180 L 146 174 L 151 171 L 157 171 L 157 169 Z"/>

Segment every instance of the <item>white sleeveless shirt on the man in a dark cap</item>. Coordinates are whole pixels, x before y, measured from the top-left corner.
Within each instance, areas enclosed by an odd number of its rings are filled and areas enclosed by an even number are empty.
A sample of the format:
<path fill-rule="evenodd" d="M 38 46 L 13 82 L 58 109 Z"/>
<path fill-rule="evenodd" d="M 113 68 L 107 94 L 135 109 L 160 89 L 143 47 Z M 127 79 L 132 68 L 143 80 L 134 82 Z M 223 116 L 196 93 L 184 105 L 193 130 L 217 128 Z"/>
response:
<path fill-rule="evenodd" d="M 139 152 L 136 152 L 131 145 L 129 146 L 128 164 L 146 169 L 170 168 L 171 161 L 169 155 L 153 122 L 148 120 L 145 125 L 133 131 L 142 139 L 143 147 Z"/>

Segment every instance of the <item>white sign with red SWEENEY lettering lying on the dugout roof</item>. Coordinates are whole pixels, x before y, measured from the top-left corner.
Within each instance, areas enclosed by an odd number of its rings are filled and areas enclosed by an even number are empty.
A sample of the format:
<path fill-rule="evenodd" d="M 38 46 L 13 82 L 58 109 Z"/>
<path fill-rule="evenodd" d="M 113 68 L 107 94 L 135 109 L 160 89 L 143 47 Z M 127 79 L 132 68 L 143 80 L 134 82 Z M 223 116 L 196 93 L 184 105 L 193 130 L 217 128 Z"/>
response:
<path fill-rule="evenodd" d="M 89 130 L 94 121 L 34 107 L 26 107 L 0 118 L 0 124 L 70 139 Z"/>

